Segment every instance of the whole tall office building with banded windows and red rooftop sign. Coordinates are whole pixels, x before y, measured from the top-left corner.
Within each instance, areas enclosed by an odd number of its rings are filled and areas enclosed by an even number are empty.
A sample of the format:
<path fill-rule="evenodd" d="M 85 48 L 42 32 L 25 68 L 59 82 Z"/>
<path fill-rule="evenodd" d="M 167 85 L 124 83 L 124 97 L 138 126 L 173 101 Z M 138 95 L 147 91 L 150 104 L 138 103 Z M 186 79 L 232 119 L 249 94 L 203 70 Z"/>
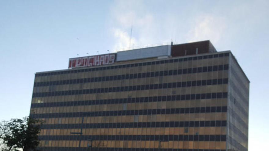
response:
<path fill-rule="evenodd" d="M 249 80 L 210 41 L 69 59 L 35 74 L 43 151 L 248 150 Z"/>

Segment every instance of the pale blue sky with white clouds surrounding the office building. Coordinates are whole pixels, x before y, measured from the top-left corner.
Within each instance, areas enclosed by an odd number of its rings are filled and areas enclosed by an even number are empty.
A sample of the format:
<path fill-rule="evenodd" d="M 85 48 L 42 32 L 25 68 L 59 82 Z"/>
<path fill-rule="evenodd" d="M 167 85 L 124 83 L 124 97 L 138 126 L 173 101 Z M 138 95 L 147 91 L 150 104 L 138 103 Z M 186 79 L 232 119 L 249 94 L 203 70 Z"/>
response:
<path fill-rule="evenodd" d="M 251 82 L 249 150 L 268 148 L 268 8 L 268 0 L 2 0 L 0 121 L 28 116 L 35 73 L 67 69 L 68 58 L 210 40 L 232 51 Z"/>

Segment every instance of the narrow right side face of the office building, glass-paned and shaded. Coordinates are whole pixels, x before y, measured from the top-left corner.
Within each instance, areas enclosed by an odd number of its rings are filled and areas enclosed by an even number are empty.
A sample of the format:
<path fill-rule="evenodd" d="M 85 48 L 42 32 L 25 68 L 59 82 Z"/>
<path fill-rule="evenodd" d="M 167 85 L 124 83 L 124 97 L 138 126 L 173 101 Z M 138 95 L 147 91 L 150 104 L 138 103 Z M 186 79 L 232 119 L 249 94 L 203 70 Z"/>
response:
<path fill-rule="evenodd" d="M 230 56 L 227 150 L 248 150 L 249 80 Z"/>

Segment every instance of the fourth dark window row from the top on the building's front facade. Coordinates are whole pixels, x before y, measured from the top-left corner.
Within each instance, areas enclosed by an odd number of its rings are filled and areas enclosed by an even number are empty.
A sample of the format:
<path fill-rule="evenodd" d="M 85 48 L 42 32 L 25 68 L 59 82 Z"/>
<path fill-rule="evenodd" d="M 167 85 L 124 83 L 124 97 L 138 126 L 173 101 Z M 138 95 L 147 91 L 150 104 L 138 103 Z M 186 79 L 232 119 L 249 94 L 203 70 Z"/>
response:
<path fill-rule="evenodd" d="M 186 94 L 186 95 L 164 95 L 137 98 L 122 99 L 100 99 L 85 101 L 65 101 L 65 102 L 48 102 L 48 103 L 32 103 L 31 108 L 37 107 L 55 107 L 55 106 L 87 106 L 99 104 L 121 104 L 121 103 L 143 103 L 143 102 L 161 102 L 161 101 L 180 101 L 195 99 L 221 99 L 227 98 L 227 92 L 202 93 L 202 94 Z"/>

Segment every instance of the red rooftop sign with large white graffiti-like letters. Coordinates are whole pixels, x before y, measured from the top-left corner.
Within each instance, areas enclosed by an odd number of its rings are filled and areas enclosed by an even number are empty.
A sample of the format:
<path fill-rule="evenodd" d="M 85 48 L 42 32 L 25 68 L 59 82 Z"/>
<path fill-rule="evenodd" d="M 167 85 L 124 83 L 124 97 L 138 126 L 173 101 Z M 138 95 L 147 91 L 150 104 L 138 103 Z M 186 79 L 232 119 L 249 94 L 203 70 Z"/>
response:
<path fill-rule="evenodd" d="M 70 58 L 68 68 L 77 68 L 77 67 L 92 67 L 113 64 L 115 61 L 116 54 L 105 54 L 97 56 L 87 56 L 87 57 L 78 57 Z"/>

